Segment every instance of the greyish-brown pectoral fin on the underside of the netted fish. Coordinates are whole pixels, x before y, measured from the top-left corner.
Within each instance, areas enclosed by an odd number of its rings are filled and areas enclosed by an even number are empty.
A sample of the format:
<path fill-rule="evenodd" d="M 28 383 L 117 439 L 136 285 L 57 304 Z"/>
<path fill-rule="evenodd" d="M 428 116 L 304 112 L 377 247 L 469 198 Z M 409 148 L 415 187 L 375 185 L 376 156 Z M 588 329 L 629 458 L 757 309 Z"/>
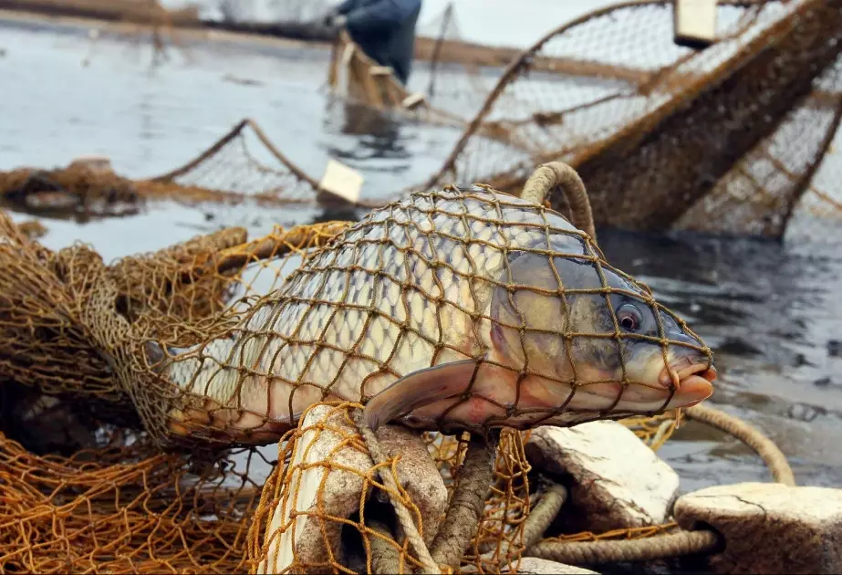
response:
<path fill-rule="evenodd" d="M 363 410 L 363 419 L 372 430 L 400 415 L 465 392 L 478 362 L 453 361 L 412 371 L 372 397 Z"/>

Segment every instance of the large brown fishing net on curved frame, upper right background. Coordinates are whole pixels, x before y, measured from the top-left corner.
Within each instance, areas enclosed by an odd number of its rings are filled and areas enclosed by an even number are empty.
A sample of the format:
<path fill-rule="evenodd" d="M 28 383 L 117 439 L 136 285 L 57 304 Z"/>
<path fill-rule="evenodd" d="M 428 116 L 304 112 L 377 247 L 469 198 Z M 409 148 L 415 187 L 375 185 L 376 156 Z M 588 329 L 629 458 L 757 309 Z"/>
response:
<path fill-rule="evenodd" d="M 562 160 L 598 225 L 663 229 L 683 215 L 690 227 L 782 235 L 837 129 L 839 8 L 720 2 L 718 41 L 701 51 L 673 43 L 670 2 L 578 18 L 512 62 L 419 187 L 517 193 L 535 165 Z"/>

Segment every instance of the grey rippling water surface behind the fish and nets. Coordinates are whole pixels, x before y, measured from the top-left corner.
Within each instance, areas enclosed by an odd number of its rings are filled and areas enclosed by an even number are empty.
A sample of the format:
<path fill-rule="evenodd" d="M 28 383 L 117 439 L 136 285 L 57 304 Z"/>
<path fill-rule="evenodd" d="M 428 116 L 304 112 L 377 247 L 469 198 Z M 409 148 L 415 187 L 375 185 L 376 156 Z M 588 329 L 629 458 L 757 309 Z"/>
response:
<path fill-rule="evenodd" d="M 325 50 L 191 46 L 150 68 L 148 47 L 108 37 L 91 43 L 87 34 L 0 26 L 0 170 L 104 153 L 119 173 L 154 175 L 251 117 L 308 173 L 319 175 L 336 157 L 364 173 L 367 186 L 390 192 L 431 173 L 458 136 L 331 103 L 321 89 Z M 425 85 L 422 69 L 413 82 Z M 326 215 L 158 204 L 85 224 L 45 220 L 43 241 L 54 248 L 89 242 L 110 259 L 222 225 L 246 225 L 256 235 Z M 799 482 L 840 486 L 842 233 L 823 222 L 812 226 L 822 230 L 821 243 L 608 230 L 599 240 L 612 263 L 648 282 L 714 347 L 721 379 L 712 403 L 770 434 Z M 768 478 L 741 444 L 693 423 L 661 454 L 681 474 L 682 490 Z"/>

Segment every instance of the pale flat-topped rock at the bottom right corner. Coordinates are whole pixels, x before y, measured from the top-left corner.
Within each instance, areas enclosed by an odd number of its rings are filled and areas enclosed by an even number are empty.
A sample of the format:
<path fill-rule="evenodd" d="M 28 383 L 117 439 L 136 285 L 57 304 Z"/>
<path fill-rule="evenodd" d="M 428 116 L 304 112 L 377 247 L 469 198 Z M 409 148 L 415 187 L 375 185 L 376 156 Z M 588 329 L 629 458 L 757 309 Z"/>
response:
<path fill-rule="evenodd" d="M 842 573 L 842 489 L 741 483 L 707 487 L 675 503 L 682 528 L 724 538 L 721 573 Z"/>

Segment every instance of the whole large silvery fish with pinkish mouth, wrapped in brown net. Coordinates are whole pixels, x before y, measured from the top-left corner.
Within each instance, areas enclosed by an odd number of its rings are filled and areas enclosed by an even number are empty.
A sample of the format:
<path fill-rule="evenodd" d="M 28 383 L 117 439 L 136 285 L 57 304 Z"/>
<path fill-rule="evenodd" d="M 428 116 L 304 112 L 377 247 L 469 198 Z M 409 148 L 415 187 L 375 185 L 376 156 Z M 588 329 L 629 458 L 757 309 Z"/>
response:
<path fill-rule="evenodd" d="M 370 212 L 226 337 L 147 349 L 161 377 L 202 398 L 172 414 L 176 433 L 203 420 L 255 441 L 326 400 L 366 403 L 375 428 L 660 413 L 707 398 L 716 374 L 702 340 L 587 235 L 477 185 Z"/>

